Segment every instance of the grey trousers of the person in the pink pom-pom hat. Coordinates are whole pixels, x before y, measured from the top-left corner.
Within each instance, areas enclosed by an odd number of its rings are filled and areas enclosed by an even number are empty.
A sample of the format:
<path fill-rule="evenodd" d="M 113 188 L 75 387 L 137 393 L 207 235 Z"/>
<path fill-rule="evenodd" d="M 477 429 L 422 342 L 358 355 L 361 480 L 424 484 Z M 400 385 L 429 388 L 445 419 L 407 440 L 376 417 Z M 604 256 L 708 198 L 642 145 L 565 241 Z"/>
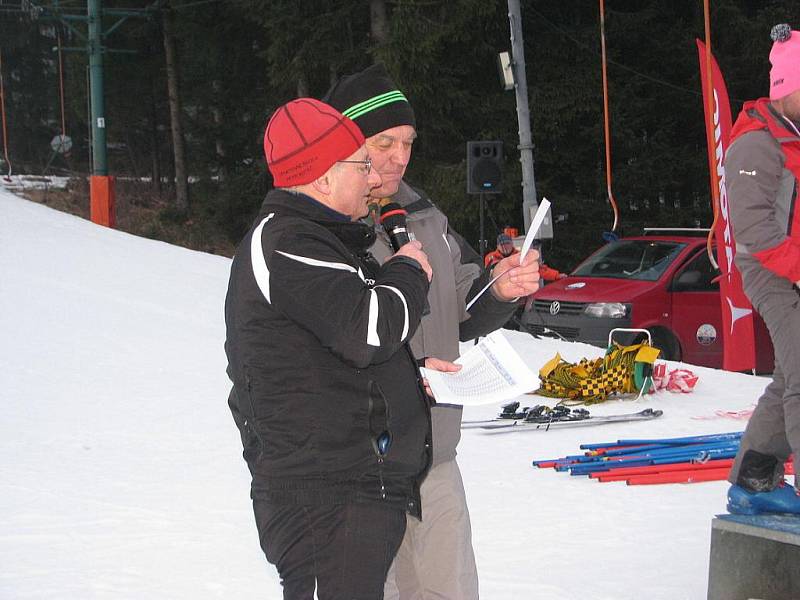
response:
<path fill-rule="evenodd" d="M 729 481 L 736 482 L 744 454 L 752 449 L 783 463 L 794 453 L 795 487 L 800 489 L 800 294 L 781 286 L 763 294 L 756 309 L 769 329 L 775 349 L 772 382 L 750 417 Z"/>

